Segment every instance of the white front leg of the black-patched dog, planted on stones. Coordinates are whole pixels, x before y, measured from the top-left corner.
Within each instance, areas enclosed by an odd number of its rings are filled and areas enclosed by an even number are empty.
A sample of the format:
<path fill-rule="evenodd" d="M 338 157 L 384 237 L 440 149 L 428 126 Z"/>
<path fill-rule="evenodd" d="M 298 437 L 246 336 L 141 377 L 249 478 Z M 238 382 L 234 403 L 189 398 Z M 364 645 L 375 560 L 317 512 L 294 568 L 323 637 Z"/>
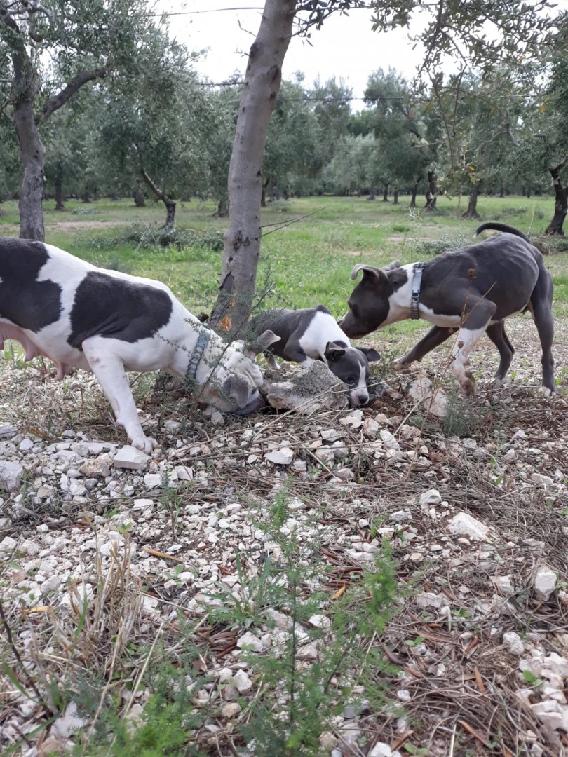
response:
<path fill-rule="evenodd" d="M 123 426 L 133 447 L 149 454 L 152 447 L 158 446 L 158 442 L 148 438 L 142 431 L 123 362 L 113 354 L 109 342 L 111 340 L 96 336 L 86 339 L 83 342 L 83 353 L 111 403 L 117 423 Z"/>

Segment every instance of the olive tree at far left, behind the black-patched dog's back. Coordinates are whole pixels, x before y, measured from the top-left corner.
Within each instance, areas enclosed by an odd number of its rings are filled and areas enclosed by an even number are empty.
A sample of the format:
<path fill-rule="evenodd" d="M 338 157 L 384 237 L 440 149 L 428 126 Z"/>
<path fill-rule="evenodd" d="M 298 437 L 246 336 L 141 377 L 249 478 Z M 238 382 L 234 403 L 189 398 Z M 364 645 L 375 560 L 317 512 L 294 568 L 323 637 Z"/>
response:
<path fill-rule="evenodd" d="M 129 70 L 161 23 L 145 0 L 0 0 L 0 59 L 23 170 L 20 237 L 45 237 L 43 123 L 87 84 Z"/>

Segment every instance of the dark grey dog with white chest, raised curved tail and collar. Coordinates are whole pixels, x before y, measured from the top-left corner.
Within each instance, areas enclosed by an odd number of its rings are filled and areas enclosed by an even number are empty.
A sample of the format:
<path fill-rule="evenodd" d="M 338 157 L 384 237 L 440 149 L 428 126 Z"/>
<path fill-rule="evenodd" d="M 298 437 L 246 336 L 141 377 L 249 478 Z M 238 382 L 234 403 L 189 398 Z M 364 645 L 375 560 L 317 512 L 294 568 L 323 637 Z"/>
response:
<path fill-rule="evenodd" d="M 504 319 L 530 310 L 542 347 L 542 391 L 554 394 L 552 341 L 554 285 L 541 252 L 523 232 L 504 223 L 483 223 L 485 229 L 503 232 L 477 245 L 446 252 L 427 263 L 384 268 L 358 264 L 351 279 L 363 279 L 351 292 L 348 313 L 339 326 L 351 338 L 361 338 L 406 318 L 422 318 L 432 329 L 395 366 L 402 368 L 448 339 L 454 332 L 451 367 L 463 394 L 472 394 L 470 350 L 484 333 L 499 350 L 501 361 L 495 382 L 502 382 L 513 359 L 513 345 Z"/>

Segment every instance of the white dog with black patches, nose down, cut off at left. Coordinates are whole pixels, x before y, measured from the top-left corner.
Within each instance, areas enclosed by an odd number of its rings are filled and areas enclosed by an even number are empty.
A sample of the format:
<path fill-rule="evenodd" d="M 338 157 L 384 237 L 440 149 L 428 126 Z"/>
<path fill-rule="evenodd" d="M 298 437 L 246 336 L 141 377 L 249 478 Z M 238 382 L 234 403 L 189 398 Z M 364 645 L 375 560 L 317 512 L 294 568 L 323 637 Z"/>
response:
<path fill-rule="evenodd" d="M 63 378 L 92 370 L 134 447 L 142 431 L 125 371 L 165 370 L 201 388 L 199 400 L 243 413 L 264 405 L 261 369 L 203 326 L 161 282 L 99 269 L 42 242 L 0 237 L 0 349 L 15 339 L 26 360 L 44 356 Z"/>

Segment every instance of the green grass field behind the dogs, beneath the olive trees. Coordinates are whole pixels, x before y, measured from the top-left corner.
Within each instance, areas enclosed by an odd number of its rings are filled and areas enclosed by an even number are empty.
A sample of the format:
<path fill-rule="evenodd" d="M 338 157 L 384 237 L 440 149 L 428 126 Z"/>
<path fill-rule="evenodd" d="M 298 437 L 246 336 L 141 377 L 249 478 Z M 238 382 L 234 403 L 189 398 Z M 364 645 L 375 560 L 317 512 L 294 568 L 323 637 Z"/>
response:
<path fill-rule="evenodd" d="M 420 204 L 422 200 L 420 199 Z M 214 302 L 221 269 L 221 253 L 202 247 L 139 249 L 123 237 L 131 224 L 163 223 L 161 205 L 136 208 L 130 200 L 105 199 L 90 204 L 67 201 L 66 210 L 55 212 L 53 201 L 45 203 L 46 241 L 85 260 L 160 279 L 190 310 L 208 310 Z M 500 220 L 527 232 L 542 232 L 551 218 L 551 197 L 479 198 L 479 220 L 461 217 L 465 203 L 457 198 L 439 198 L 439 212 L 410 214 L 408 198 L 396 206 L 379 199 L 317 197 L 279 201 L 262 213 L 264 232 L 270 224 L 282 223 L 307 213 L 311 217 L 270 233 L 263 241 L 259 282 L 268 269 L 276 282 L 276 297 L 290 307 L 312 307 L 323 302 L 339 316 L 345 312 L 351 291 L 350 273 L 355 263 L 376 265 L 399 259 L 403 263 L 429 257 L 439 243 L 460 245 L 473 239 L 481 221 Z M 2 204 L 0 233 L 17 234 L 17 203 Z M 214 217 L 214 203 L 179 204 L 179 229 L 198 232 L 226 228 L 226 219 Z M 112 238 L 116 243 L 112 244 Z M 111 240 L 109 241 L 109 238 Z M 568 254 L 547 257 L 556 287 L 555 312 L 568 313 Z M 392 329 L 413 329 L 404 323 Z"/>

